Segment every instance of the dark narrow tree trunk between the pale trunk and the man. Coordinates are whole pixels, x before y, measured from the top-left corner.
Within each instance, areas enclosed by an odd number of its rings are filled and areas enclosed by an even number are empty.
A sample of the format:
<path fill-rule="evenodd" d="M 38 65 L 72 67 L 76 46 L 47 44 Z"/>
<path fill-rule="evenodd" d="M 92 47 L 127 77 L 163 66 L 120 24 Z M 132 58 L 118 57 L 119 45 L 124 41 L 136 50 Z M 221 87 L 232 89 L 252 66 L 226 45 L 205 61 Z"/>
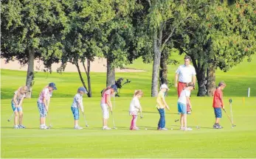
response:
<path fill-rule="evenodd" d="M 167 54 L 165 52 L 162 52 L 161 54 L 161 59 L 160 59 L 160 71 L 159 71 L 159 79 L 160 79 L 160 85 L 162 84 L 168 84 L 167 80 L 167 73 L 168 73 L 168 68 L 167 68 Z"/>

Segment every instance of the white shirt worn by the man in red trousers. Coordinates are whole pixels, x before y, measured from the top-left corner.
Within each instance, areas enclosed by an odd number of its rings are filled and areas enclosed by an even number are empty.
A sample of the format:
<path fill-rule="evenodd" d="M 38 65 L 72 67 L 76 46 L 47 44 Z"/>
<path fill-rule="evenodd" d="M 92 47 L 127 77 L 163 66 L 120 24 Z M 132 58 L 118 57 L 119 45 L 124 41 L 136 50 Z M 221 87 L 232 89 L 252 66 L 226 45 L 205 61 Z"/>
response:
<path fill-rule="evenodd" d="M 179 74 L 179 82 L 192 82 L 192 76 L 196 75 L 194 66 L 181 65 L 176 71 Z"/>

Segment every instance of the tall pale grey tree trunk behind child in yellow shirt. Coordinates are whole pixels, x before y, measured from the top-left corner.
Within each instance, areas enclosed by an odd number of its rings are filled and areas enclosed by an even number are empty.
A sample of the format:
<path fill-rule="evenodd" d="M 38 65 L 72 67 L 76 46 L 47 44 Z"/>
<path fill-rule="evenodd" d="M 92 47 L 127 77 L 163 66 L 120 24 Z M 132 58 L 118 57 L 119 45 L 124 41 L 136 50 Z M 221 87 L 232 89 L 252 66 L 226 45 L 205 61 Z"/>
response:
<path fill-rule="evenodd" d="M 152 85 L 151 85 L 151 96 L 157 96 L 159 87 L 159 68 L 160 68 L 160 57 L 161 52 L 159 50 L 159 42 L 157 38 L 157 32 L 153 35 L 153 71 L 152 71 Z"/>

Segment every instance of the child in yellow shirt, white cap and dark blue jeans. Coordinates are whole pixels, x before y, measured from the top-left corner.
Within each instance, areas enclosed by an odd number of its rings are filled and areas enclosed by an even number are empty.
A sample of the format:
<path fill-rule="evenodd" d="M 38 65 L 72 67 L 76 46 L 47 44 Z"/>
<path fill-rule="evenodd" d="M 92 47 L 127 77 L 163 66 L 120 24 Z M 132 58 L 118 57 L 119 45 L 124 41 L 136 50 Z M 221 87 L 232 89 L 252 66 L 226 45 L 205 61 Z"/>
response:
<path fill-rule="evenodd" d="M 165 85 L 165 84 L 161 85 L 160 91 L 156 98 L 156 108 L 160 114 L 160 119 L 159 119 L 157 130 L 167 130 L 165 128 L 165 107 L 167 108 L 167 110 L 170 110 L 169 106 L 165 102 L 165 92 L 167 90 L 169 90 L 167 85 Z"/>

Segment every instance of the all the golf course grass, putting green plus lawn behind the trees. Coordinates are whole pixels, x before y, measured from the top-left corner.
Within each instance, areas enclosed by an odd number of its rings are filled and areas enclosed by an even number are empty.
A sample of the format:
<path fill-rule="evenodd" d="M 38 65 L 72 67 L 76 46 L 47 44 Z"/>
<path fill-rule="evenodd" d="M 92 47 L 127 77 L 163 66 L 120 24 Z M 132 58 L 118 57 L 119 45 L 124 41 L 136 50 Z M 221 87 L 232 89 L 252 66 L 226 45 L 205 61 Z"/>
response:
<path fill-rule="evenodd" d="M 182 58 L 177 59 L 181 61 Z M 86 119 L 74 130 L 70 109 L 73 96 L 81 82 L 77 73 L 64 72 L 35 74 L 32 99 L 24 99 L 25 130 L 14 130 L 10 101 L 13 92 L 26 81 L 26 71 L 1 69 L 1 158 L 256 158 L 256 54 L 252 62 L 246 60 L 224 73 L 216 71 L 216 83 L 224 80 L 226 112 L 230 116 L 229 98 L 232 98 L 232 112 L 236 127 L 223 112 L 222 130 L 212 129 L 215 116 L 212 97 L 196 97 L 193 91 L 191 102 L 193 114 L 188 116 L 188 125 L 193 131 L 179 130 L 176 89 L 171 88 L 166 98 L 170 112 L 166 112 L 167 131 L 157 131 L 159 113 L 156 98 L 151 96 L 151 64 L 136 60 L 130 68 L 145 69 L 145 72 L 117 73 L 116 79 L 131 80 L 124 85 L 119 98 L 115 98 L 114 121 L 117 130 L 103 131 L 100 109 L 100 91 L 105 87 L 105 73 L 91 73 L 92 98 L 83 97 Z M 141 64 L 141 65 L 140 65 Z M 178 66 L 168 66 L 168 79 L 173 82 Z M 83 74 L 86 77 L 85 74 Z M 49 82 L 55 82 L 58 90 L 53 93 L 49 114 L 53 127 L 39 130 L 39 113 L 36 101 L 41 89 Z M 251 88 L 248 98 L 247 89 Z M 135 89 L 142 89 L 140 99 L 143 119 L 137 120 L 138 131 L 128 130 L 131 116 L 129 104 Z M 197 89 L 197 87 L 196 87 Z M 244 100 L 243 100 L 244 99 Z M 113 99 L 112 99 L 113 100 Z M 49 119 L 46 119 L 49 125 Z M 108 121 L 113 127 L 112 116 Z M 196 129 L 196 126 L 201 127 Z M 171 130 L 173 128 L 173 130 Z M 146 130 L 147 129 L 147 130 Z"/>

